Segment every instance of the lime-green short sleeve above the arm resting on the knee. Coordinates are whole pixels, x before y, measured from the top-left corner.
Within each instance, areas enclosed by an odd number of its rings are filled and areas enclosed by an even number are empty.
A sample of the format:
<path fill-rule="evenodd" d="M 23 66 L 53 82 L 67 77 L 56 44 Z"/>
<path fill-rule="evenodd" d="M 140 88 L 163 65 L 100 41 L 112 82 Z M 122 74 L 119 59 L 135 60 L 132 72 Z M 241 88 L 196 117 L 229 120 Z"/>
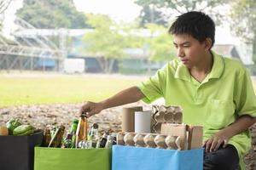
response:
<path fill-rule="evenodd" d="M 249 115 L 256 117 L 256 97 L 251 77 L 246 69 L 238 78 L 235 93 L 238 116 Z"/>

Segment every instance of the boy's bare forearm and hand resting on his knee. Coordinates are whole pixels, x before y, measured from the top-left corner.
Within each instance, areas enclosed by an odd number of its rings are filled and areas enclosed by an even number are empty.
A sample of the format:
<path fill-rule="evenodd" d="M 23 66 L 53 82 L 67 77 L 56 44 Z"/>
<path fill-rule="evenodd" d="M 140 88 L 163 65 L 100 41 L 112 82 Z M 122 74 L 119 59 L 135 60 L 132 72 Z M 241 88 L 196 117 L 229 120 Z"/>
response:
<path fill-rule="evenodd" d="M 228 144 L 228 140 L 239 134 L 249 127 L 251 127 L 256 122 L 256 117 L 252 116 L 240 116 L 236 122 L 232 123 L 229 127 L 225 127 L 220 130 L 218 133 L 212 136 L 212 138 L 205 141 L 204 146 L 206 151 L 218 150 L 221 144 L 224 144 L 224 147 Z"/>

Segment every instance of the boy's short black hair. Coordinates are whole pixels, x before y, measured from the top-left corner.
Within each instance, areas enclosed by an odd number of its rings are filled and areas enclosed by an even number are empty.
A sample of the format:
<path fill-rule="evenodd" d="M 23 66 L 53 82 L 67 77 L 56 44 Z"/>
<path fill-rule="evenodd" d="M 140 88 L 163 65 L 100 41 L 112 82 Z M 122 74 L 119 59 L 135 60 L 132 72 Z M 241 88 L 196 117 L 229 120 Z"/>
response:
<path fill-rule="evenodd" d="M 189 34 L 199 42 L 203 42 L 209 37 L 212 39 L 212 46 L 215 42 L 215 24 L 213 20 L 207 14 L 199 11 L 179 15 L 168 32 L 172 35 Z"/>

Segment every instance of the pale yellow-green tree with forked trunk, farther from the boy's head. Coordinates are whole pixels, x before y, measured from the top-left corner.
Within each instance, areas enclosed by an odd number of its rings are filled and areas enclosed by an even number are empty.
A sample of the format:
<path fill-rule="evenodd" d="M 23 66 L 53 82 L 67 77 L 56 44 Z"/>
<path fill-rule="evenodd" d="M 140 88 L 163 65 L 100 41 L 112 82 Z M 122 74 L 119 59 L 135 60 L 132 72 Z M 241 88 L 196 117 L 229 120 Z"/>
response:
<path fill-rule="evenodd" d="M 93 31 L 83 37 L 84 51 L 96 56 L 105 72 L 111 72 L 113 59 L 125 56 L 126 40 L 119 26 L 107 15 L 87 14 L 88 24 Z"/>

